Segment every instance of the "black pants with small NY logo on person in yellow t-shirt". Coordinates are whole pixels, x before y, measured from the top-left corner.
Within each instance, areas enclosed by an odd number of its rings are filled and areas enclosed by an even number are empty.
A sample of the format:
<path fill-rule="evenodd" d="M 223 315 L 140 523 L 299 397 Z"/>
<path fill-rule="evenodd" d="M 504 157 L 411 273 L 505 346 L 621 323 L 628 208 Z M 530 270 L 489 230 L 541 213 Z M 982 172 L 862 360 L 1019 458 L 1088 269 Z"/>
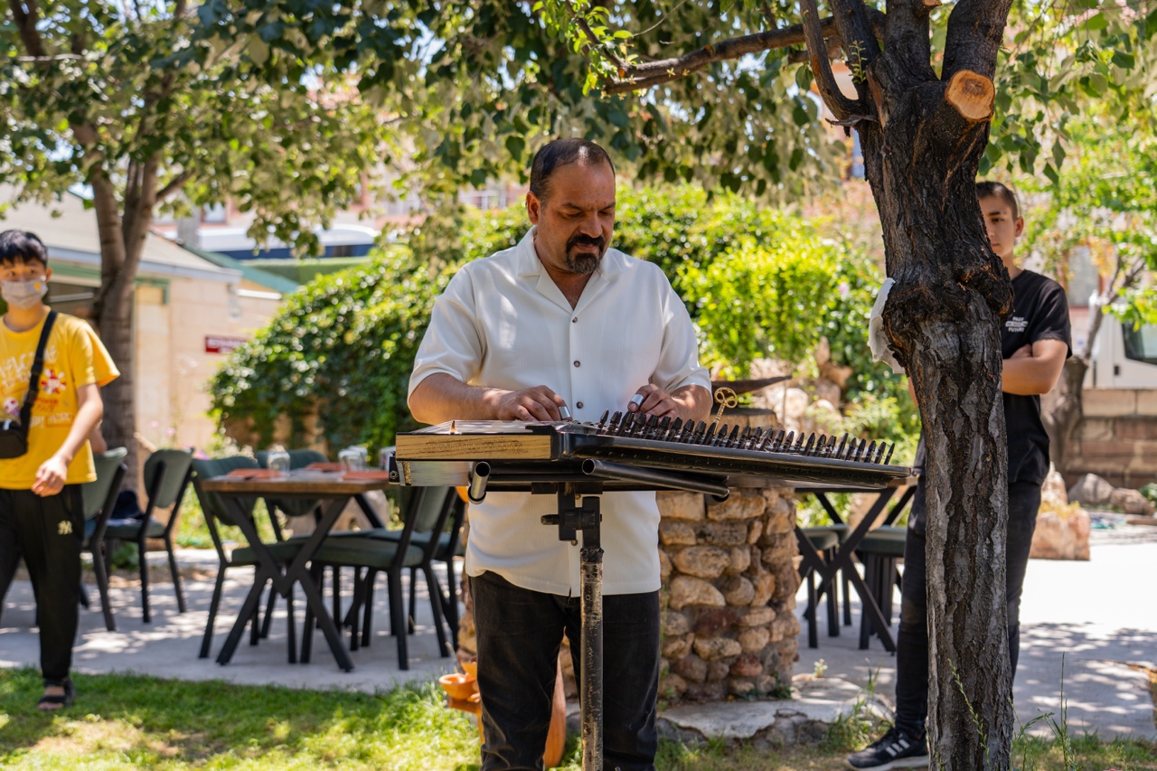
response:
<path fill-rule="evenodd" d="M 36 596 L 40 670 L 47 684 L 60 684 L 72 667 L 83 508 L 79 485 L 45 498 L 29 490 L 0 490 L 0 609 L 23 557 Z"/>

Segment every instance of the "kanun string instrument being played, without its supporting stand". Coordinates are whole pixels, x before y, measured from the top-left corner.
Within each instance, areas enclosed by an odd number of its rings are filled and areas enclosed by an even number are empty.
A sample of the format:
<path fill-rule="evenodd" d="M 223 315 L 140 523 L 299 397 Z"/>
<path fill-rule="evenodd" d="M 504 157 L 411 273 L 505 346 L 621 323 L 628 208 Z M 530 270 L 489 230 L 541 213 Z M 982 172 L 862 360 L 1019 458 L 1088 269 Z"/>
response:
<path fill-rule="evenodd" d="M 691 490 L 725 498 L 758 478 L 885 486 L 911 469 L 890 465 L 894 445 L 641 413 L 603 413 L 597 423 L 455 420 L 398 434 L 391 479 L 404 485 L 469 485 L 554 492 L 559 484 L 611 490 Z"/>

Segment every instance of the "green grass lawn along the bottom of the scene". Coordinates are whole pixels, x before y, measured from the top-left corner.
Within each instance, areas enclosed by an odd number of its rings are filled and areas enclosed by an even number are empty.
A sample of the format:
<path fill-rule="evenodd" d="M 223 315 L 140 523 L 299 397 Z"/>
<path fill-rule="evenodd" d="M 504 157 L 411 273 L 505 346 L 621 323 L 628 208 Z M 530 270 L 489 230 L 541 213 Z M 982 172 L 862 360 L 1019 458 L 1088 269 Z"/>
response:
<path fill-rule="evenodd" d="M 367 696 L 131 675 L 80 675 L 66 713 L 40 714 L 40 681 L 30 669 L 0 670 L 0 768 L 45 771 L 127 769 L 294 769 L 466 771 L 478 768 L 478 734 L 462 713 L 442 706 L 435 685 Z M 863 742 L 842 724 L 817 747 L 725 749 L 664 742 L 662 771 L 834 771 Z M 1018 769 L 1031 771 L 1157 771 L 1157 746 L 1018 741 Z M 565 769 L 577 771 L 576 740 Z"/>

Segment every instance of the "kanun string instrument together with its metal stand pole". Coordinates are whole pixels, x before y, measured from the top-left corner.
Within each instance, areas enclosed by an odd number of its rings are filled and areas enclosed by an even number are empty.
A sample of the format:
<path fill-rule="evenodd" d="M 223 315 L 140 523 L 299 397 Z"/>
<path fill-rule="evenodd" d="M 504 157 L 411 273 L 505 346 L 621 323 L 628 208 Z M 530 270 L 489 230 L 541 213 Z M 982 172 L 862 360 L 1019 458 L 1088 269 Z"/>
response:
<path fill-rule="evenodd" d="M 398 434 L 390 479 L 413 486 L 465 485 L 558 497 L 541 517 L 561 541 L 582 533 L 582 741 L 584 771 L 603 769 L 603 549 L 598 494 L 686 490 L 728 497 L 731 487 L 809 482 L 885 487 L 912 470 L 890 464 L 894 445 L 712 424 L 634 412 L 597 423 L 454 420 Z M 758 482 L 757 482 L 758 480 Z M 484 663 L 485 666 L 485 663 Z"/>

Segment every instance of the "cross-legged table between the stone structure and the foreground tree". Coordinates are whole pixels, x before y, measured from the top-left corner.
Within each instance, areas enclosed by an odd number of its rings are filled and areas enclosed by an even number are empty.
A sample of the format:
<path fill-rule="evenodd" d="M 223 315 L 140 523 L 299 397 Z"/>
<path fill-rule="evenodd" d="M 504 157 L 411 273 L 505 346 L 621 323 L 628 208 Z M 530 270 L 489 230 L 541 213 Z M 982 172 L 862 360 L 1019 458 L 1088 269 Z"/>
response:
<path fill-rule="evenodd" d="M 796 537 L 799 543 L 803 544 L 803 561 L 799 565 L 799 577 L 806 580 L 808 574 L 815 571 L 819 575 L 819 589 L 816 593 L 816 600 L 813 603 L 809 603 L 808 610 L 804 611 L 804 618 L 809 621 L 815 617 L 816 609 L 819 607 L 819 601 L 823 600 L 825 592 L 834 592 L 835 589 L 835 578 L 839 575 L 840 571 L 843 571 L 843 575 L 852 582 L 855 588 L 856 594 L 860 595 L 860 601 L 863 603 L 863 612 L 868 614 L 868 618 L 871 621 L 872 629 L 879 632 L 879 639 L 884 644 L 884 648 L 889 653 L 896 653 L 896 640 L 892 639 L 892 633 L 889 630 L 889 625 L 884 621 L 884 614 L 876 603 L 876 597 L 872 596 L 871 592 L 868 590 L 867 585 L 860 577 L 860 572 L 856 571 L 855 566 L 852 564 L 852 557 L 856 549 L 860 548 L 860 542 L 863 541 L 864 536 L 875 524 L 876 520 L 879 519 L 880 513 L 887 506 L 892 497 L 896 495 L 897 491 L 904 487 L 904 493 L 900 499 L 892 506 L 887 512 L 887 516 L 884 517 L 884 524 L 891 524 L 896 521 L 896 517 L 900 515 L 912 497 L 916 494 L 916 479 L 919 477 L 901 477 L 899 479 L 893 479 L 886 487 L 854 487 L 847 485 L 796 485 L 796 494 L 811 494 L 816 497 L 819 505 L 824 507 L 824 511 L 832 517 L 832 521 L 838 524 L 843 524 L 843 519 L 840 516 L 839 512 L 832 505 L 832 501 L 827 499 L 828 493 L 874 493 L 876 500 L 872 501 L 871 508 L 864 514 L 863 519 L 860 520 L 860 524 L 848 535 L 847 539 L 837 545 L 835 557 L 831 561 L 824 561 L 811 539 L 803 531 L 803 528 L 796 523 Z M 833 595 L 834 596 L 834 595 Z"/>

